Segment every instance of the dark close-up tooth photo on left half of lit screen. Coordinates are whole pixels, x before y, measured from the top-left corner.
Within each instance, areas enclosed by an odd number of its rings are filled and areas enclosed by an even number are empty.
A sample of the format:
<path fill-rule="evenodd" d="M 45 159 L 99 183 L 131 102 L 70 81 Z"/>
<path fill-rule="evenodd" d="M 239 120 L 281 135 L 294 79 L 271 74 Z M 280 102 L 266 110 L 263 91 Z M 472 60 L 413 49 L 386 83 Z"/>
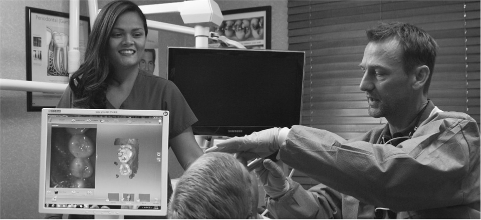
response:
<path fill-rule="evenodd" d="M 95 188 L 96 128 L 52 128 L 50 187 Z"/>

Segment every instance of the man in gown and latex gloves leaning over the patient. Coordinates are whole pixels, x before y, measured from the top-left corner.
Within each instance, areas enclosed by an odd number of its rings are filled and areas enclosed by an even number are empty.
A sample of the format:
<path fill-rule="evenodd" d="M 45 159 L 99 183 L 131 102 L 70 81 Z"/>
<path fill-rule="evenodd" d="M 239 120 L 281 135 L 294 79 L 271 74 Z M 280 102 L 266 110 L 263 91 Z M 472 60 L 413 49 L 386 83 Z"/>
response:
<path fill-rule="evenodd" d="M 381 23 L 367 38 L 360 89 L 369 115 L 387 124 L 350 140 L 299 125 L 271 128 L 206 152 L 276 153 L 322 183 L 305 190 L 265 159 L 256 173 L 277 218 L 480 218 L 477 123 L 428 99 L 435 40 L 399 22 Z"/>

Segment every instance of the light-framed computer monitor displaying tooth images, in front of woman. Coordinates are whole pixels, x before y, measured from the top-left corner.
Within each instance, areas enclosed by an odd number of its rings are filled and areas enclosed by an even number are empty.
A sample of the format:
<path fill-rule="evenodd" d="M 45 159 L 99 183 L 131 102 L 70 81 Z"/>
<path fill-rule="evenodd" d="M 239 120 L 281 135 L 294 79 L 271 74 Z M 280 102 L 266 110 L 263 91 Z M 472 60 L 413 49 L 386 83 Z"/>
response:
<path fill-rule="evenodd" d="M 168 111 L 42 109 L 39 212 L 166 215 L 168 128 Z"/>

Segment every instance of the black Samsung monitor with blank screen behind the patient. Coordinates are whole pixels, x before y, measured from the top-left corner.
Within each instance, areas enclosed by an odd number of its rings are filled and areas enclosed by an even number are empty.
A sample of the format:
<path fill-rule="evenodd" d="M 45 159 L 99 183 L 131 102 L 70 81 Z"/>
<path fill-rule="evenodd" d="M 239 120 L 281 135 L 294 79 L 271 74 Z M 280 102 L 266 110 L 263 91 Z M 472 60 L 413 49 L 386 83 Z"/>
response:
<path fill-rule="evenodd" d="M 168 78 L 196 135 L 241 136 L 300 124 L 305 52 L 168 48 Z"/>

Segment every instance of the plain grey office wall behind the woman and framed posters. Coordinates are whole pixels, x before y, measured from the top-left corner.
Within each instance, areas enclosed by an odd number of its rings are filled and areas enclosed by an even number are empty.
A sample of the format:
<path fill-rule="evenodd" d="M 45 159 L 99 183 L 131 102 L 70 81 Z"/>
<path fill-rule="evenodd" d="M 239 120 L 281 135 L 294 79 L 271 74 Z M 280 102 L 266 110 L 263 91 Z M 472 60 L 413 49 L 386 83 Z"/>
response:
<path fill-rule="evenodd" d="M 111 0 L 99 1 L 99 7 Z M 134 1 L 138 5 L 179 1 Z M 216 1 L 221 10 L 272 6 L 272 49 L 287 50 L 287 1 Z M 26 80 L 25 7 L 69 12 L 64 0 L 0 0 L 0 78 Z M 87 1 L 80 14 L 88 16 Z M 175 14 L 149 15 L 148 19 L 181 24 Z M 165 71 L 167 46 L 194 46 L 193 37 L 159 32 L 160 71 Z M 27 112 L 22 91 L 0 91 L 0 218 L 43 218 L 38 213 L 40 112 Z M 172 161 L 170 160 L 172 159 Z M 169 158 L 171 175 L 182 170 Z"/>

